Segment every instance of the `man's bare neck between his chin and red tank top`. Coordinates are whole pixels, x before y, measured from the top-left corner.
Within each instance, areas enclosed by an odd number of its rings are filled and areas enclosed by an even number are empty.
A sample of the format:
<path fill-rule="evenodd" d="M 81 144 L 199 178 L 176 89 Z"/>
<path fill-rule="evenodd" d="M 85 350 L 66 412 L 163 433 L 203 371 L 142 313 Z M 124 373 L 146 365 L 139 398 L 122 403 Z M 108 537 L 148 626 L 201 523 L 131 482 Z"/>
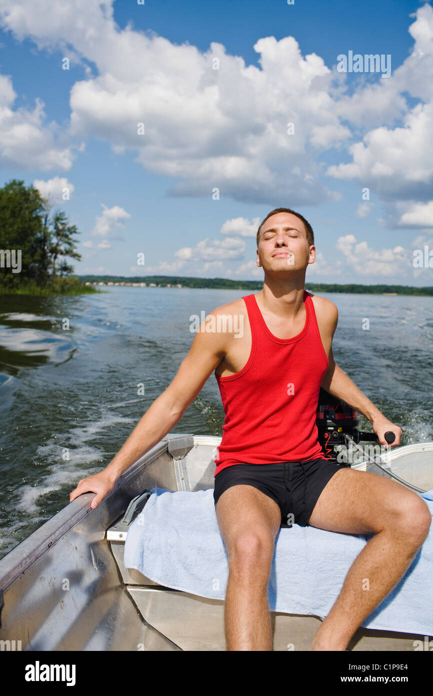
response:
<path fill-rule="evenodd" d="M 280 319 L 295 319 L 304 304 L 305 274 L 297 278 L 268 278 L 256 294 L 261 309 Z"/>

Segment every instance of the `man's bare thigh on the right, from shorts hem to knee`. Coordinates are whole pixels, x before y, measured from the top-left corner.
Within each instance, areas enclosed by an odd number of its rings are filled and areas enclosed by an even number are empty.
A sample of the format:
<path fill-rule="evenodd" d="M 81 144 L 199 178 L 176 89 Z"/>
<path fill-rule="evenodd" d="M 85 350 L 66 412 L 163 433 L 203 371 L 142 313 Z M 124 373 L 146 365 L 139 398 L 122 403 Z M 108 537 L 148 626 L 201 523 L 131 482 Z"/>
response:
<path fill-rule="evenodd" d="M 308 524 L 329 532 L 375 534 L 398 528 L 402 519 L 425 519 L 425 501 L 418 493 L 378 474 L 344 468 L 329 480 Z"/>

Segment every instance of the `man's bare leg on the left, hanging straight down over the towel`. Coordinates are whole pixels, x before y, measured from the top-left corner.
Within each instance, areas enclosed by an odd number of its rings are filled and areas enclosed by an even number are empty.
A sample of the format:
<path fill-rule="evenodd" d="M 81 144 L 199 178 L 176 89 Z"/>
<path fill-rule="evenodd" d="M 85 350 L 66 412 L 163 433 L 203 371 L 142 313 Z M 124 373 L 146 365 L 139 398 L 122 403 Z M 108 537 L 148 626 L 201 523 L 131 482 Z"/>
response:
<path fill-rule="evenodd" d="M 215 507 L 229 555 L 224 603 L 227 650 L 272 650 L 268 580 L 281 511 L 258 489 L 239 484 Z"/>

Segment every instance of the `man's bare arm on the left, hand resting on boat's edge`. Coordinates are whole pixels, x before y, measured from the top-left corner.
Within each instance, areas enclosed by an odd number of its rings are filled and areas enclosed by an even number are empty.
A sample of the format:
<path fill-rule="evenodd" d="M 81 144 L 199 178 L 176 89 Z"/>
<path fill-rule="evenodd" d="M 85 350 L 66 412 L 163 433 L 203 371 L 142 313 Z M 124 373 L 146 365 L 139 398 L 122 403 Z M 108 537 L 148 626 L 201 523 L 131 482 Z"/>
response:
<path fill-rule="evenodd" d="M 97 495 L 91 507 L 97 507 L 113 490 L 122 473 L 172 430 L 220 364 L 225 354 L 226 336 L 224 333 L 197 331 L 172 383 L 149 406 L 110 464 L 101 472 L 79 481 L 76 489 L 70 493 L 70 502 L 82 493 L 93 491 Z"/>

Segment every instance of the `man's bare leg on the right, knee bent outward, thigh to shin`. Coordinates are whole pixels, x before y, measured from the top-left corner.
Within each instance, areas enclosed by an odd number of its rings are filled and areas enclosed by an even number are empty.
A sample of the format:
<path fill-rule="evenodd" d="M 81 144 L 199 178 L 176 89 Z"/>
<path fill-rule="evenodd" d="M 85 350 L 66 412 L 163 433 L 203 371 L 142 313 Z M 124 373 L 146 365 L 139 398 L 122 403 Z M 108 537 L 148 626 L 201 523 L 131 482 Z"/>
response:
<path fill-rule="evenodd" d="M 332 532 L 374 536 L 352 563 L 311 650 L 345 650 L 363 620 L 405 574 L 431 522 L 425 501 L 396 481 L 350 468 L 334 474 L 309 524 Z"/>

